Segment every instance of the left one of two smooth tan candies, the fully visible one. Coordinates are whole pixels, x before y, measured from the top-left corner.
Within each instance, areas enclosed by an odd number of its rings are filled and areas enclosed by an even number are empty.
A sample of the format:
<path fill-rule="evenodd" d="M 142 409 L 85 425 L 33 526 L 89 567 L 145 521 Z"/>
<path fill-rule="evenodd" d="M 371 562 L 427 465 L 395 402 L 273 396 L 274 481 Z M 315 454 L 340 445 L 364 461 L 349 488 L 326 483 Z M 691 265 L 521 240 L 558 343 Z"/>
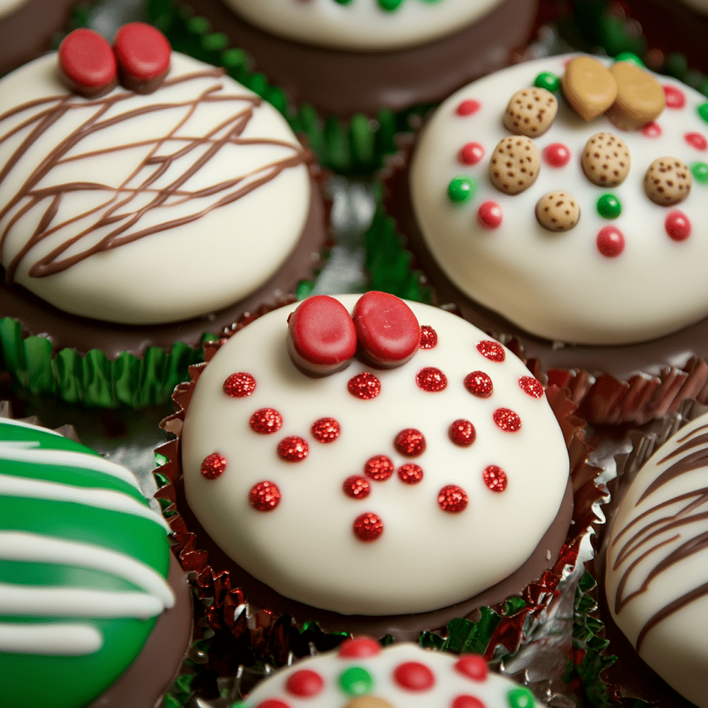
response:
<path fill-rule="evenodd" d="M 585 120 L 605 113 L 617 98 L 615 77 L 605 64 L 593 57 L 571 59 L 561 83 L 566 101 Z"/>

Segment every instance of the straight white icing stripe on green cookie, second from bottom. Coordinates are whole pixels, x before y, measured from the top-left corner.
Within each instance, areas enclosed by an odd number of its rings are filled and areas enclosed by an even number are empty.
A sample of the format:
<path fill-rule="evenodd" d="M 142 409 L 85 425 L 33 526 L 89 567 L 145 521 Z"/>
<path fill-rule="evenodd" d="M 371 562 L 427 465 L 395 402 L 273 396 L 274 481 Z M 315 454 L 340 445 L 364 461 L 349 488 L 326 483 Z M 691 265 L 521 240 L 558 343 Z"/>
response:
<path fill-rule="evenodd" d="M 0 583 L 0 615 L 18 617 L 155 617 L 159 598 L 144 593 Z"/>

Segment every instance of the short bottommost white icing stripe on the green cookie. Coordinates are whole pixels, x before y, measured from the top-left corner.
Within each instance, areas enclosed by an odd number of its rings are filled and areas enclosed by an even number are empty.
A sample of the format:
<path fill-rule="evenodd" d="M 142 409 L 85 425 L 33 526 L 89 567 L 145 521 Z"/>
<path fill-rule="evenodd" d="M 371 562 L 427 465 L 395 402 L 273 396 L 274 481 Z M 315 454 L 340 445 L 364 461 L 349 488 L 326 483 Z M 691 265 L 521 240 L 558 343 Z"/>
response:
<path fill-rule="evenodd" d="M 83 656 L 96 653 L 103 636 L 88 624 L 0 623 L 0 651 L 43 656 Z"/>

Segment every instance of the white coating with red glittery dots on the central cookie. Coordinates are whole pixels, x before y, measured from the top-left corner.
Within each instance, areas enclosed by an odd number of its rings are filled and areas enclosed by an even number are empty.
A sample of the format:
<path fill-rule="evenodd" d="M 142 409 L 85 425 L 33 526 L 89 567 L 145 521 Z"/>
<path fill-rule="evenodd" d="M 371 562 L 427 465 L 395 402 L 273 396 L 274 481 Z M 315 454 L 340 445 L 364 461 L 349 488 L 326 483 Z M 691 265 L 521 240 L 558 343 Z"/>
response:
<path fill-rule="evenodd" d="M 357 296 L 338 299 L 353 312 Z M 197 382 L 187 502 L 287 598 L 345 615 L 447 607 L 522 566 L 559 511 L 569 461 L 539 382 L 466 321 L 408 304 L 437 343 L 398 368 L 304 375 L 291 306 L 236 333 Z"/>

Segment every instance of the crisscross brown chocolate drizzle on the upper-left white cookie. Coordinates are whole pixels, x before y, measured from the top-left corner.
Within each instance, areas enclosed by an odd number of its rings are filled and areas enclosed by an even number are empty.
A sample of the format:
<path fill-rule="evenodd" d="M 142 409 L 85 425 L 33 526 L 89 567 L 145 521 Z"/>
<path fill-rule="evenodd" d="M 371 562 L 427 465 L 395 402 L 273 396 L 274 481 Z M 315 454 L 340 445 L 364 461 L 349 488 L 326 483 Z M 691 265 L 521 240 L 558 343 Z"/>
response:
<path fill-rule="evenodd" d="M 200 79 L 219 79 L 223 73 L 224 72 L 221 69 L 193 72 L 192 74 L 176 76 L 173 79 L 164 81 L 163 86 L 170 87 L 180 84 L 188 84 L 190 81 L 198 81 Z M 135 93 L 132 91 L 120 91 L 118 93 L 114 92 L 94 101 L 81 101 L 75 96 L 50 96 L 48 98 L 41 98 L 24 103 L 16 108 L 13 108 L 12 110 L 7 111 L 3 115 L 0 115 L 1 124 L 4 120 L 12 118 L 15 115 L 39 108 L 37 112 L 31 114 L 30 117 L 21 122 L 20 125 L 14 127 L 8 132 L 5 132 L 4 134 L 0 134 L 1 144 L 6 142 L 8 138 L 16 135 L 17 132 L 27 127 L 32 127 L 28 137 L 26 137 L 18 149 L 13 152 L 4 168 L 0 171 L 1 184 L 11 173 L 18 161 L 20 161 L 28 150 L 33 147 L 33 144 L 35 144 L 40 136 L 42 136 L 60 118 L 63 118 L 64 115 L 72 110 L 85 110 L 86 108 L 95 109 L 90 118 L 81 123 L 81 125 L 79 125 L 79 127 L 77 127 L 74 131 L 70 132 L 67 137 L 59 142 L 55 149 L 47 154 L 45 159 L 40 162 L 40 164 L 30 174 L 27 181 L 25 181 L 22 187 L 18 190 L 18 193 L 2 210 L 0 210 L 0 219 L 4 219 L 4 217 L 10 214 L 15 207 L 18 207 L 16 212 L 9 219 L 4 231 L 0 233 L 1 254 L 8 234 L 16 222 L 18 222 L 18 220 L 25 214 L 30 212 L 30 210 L 33 210 L 34 207 L 40 205 L 41 202 L 48 200 L 48 205 L 42 215 L 42 218 L 40 219 L 38 227 L 35 229 L 35 232 L 30 236 L 28 241 L 20 249 L 20 251 L 18 251 L 16 256 L 6 268 L 6 282 L 8 282 L 8 284 L 13 282 L 16 271 L 20 263 L 23 261 L 23 258 L 25 258 L 25 256 L 27 256 L 27 254 L 35 246 L 40 244 L 49 236 L 52 236 L 52 234 L 55 234 L 59 231 L 59 229 L 63 229 L 64 227 L 79 222 L 82 219 L 96 215 L 96 220 L 93 224 L 91 224 L 91 226 L 82 229 L 81 232 L 77 234 L 73 234 L 69 239 L 63 241 L 62 244 L 59 244 L 59 246 L 50 251 L 50 253 L 47 253 L 46 256 L 43 256 L 36 263 L 34 263 L 29 270 L 30 277 L 45 278 L 47 275 L 60 273 L 62 270 L 66 270 L 72 265 L 75 265 L 80 261 L 84 261 L 84 259 L 89 258 L 89 256 L 93 256 L 96 253 L 110 251 L 124 244 L 130 244 L 132 241 L 142 239 L 145 236 L 193 222 L 205 216 L 208 212 L 218 209 L 219 207 L 229 205 L 241 197 L 249 194 L 251 191 L 256 190 L 258 187 L 265 185 L 275 179 L 285 169 L 304 164 L 307 161 L 307 156 L 299 145 L 290 144 L 277 139 L 245 139 L 241 137 L 244 130 L 246 130 L 246 127 L 249 125 L 251 118 L 253 118 L 253 109 L 258 105 L 261 105 L 261 99 L 258 98 L 258 96 L 239 96 L 219 93 L 223 90 L 223 88 L 223 84 L 217 81 L 217 83 L 212 84 L 212 86 L 209 86 L 209 88 L 205 89 L 205 91 L 202 91 L 202 93 L 200 93 L 196 98 L 186 101 L 153 103 L 152 105 L 146 105 L 142 108 L 127 110 L 125 113 L 120 113 L 120 115 L 116 115 L 113 118 L 103 118 L 103 116 L 115 105 L 134 97 Z M 180 130 L 181 127 L 183 127 L 183 125 L 185 125 L 185 123 L 192 117 L 198 106 L 205 103 L 245 103 L 246 105 L 245 107 L 240 106 L 239 108 L 234 108 L 234 113 L 229 116 L 227 120 L 224 120 L 219 125 L 215 126 L 204 137 L 185 137 L 176 135 L 178 130 Z M 149 113 L 160 113 L 172 110 L 174 108 L 185 108 L 187 110 L 182 118 L 176 122 L 176 125 L 171 127 L 171 129 L 166 132 L 164 137 L 139 142 L 128 142 L 105 149 L 67 156 L 67 153 L 69 153 L 70 150 L 89 136 L 100 133 L 103 130 L 109 130 L 116 125 L 120 125 L 127 120 L 131 120 L 132 118 L 139 118 L 142 115 L 147 115 Z M 162 147 L 170 143 L 183 144 L 183 147 L 178 147 L 176 152 L 172 152 L 171 154 L 158 154 Z M 293 150 L 293 154 L 283 159 L 273 161 L 270 164 L 266 164 L 265 166 L 252 170 L 244 175 L 230 178 L 214 185 L 210 185 L 206 188 L 198 190 L 186 189 L 184 187 L 185 183 L 187 183 L 190 178 L 195 176 L 195 174 L 205 167 L 209 161 L 216 154 L 218 154 L 222 147 L 227 144 L 277 145 L 280 147 L 291 148 Z M 145 157 L 145 159 L 143 159 L 135 167 L 135 170 L 132 171 L 130 176 L 128 176 L 118 188 L 91 182 L 69 182 L 46 188 L 38 188 L 37 186 L 38 183 L 45 179 L 53 169 L 57 166 L 61 166 L 62 164 L 81 159 L 93 158 L 108 154 L 110 152 L 130 150 L 135 149 L 136 147 L 144 146 L 151 146 L 147 157 Z M 203 152 L 200 151 L 200 148 L 202 147 L 206 147 Z M 173 181 L 171 181 L 171 183 L 169 183 L 169 185 L 166 185 L 166 187 L 157 188 L 154 186 L 156 181 L 164 176 L 166 171 L 174 164 L 176 160 L 181 159 L 195 151 L 199 152 L 188 169 L 182 171 Z M 149 170 L 148 176 L 144 178 L 144 180 L 139 183 L 137 187 L 129 187 L 128 185 L 130 185 L 130 183 L 137 178 L 139 173 L 146 168 L 152 168 Z M 55 224 L 55 217 L 57 216 L 57 212 L 59 211 L 64 195 L 80 190 L 103 191 L 107 193 L 107 199 L 101 205 L 93 207 L 89 211 Z M 132 202 L 145 194 L 149 194 L 151 196 L 147 204 L 131 210 L 130 205 Z M 135 231 L 131 230 L 139 224 L 139 220 L 148 212 L 159 210 L 161 207 L 181 205 L 189 200 L 203 199 L 207 197 L 213 197 L 215 200 L 206 207 L 195 211 L 193 214 L 176 219 L 170 219 L 151 227 L 145 227 L 142 229 L 138 227 Z M 21 204 L 21 202 L 25 203 Z M 86 247 L 86 249 L 80 251 L 79 253 L 74 253 L 72 256 L 64 256 L 62 258 L 62 254 L 64 254 L 65 251 L 67 251 L 67 249 L 71 246 L 80 242 L 82 239 L 85 239 L 86 236 L 91 236 L 91 234 L 94 234 L 94 232 L 98 229 L 105 229 L 106 227 L 113 228 L 95 244 Z"/>

